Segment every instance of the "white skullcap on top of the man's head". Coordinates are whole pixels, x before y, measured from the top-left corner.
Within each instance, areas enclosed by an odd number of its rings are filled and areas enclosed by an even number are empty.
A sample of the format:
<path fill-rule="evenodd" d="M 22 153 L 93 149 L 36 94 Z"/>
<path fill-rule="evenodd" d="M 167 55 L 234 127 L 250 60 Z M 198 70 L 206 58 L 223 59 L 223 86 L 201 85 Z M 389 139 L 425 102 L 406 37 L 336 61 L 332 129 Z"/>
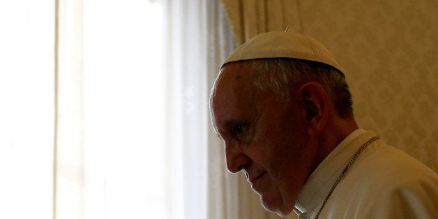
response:
<path fill-rule="evenodd" d="M 326 63 L 340 69 L 338 62 L 324 45 L 314 38 L 289 31 L 259 34 L 243 43 L 225 59 L 222 66 L 232 61 L 261 58 L 294 58 Z"/>

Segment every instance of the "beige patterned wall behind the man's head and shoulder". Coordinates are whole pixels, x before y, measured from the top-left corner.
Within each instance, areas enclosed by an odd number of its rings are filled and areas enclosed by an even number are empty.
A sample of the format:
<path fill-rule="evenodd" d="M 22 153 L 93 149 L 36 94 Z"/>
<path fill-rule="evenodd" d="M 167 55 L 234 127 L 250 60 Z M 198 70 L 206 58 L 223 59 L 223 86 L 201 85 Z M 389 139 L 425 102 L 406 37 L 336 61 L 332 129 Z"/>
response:
<path fill-rule="evenodd" d="M 438 1 L 299 1 L 297 31 L 345 71 L 356 119 L 438 172 Z"/>

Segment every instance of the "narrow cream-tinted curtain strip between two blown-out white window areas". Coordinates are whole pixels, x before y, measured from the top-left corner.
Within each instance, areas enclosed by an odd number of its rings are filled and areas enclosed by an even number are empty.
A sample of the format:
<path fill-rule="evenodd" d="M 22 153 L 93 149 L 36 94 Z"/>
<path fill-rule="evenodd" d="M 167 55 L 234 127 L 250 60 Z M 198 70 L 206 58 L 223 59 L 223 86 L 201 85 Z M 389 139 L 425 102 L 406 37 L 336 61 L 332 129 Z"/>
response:
<path fill-rule="evenodd" d="M 82 1 L 56 1 L 54 218 L 84 218 Z"/>

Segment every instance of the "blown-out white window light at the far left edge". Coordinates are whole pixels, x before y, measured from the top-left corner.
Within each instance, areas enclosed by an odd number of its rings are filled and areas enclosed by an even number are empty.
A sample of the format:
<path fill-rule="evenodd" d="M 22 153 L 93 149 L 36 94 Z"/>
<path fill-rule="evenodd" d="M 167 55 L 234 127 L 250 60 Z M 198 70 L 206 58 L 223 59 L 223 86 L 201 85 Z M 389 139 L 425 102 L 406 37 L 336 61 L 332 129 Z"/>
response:
<path fill-rule="evenodd" d="M 0 218 L 52 218 L 53 1 L 0 1 L 0 29 Z"/>

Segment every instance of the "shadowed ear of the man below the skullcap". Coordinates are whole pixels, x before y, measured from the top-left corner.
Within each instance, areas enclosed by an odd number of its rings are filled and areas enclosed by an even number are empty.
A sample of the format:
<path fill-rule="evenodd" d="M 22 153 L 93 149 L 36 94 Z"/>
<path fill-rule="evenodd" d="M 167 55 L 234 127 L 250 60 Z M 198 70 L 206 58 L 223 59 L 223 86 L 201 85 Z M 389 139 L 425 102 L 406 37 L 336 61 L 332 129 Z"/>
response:
<path fill-rule="evenodd" d="M 329 118 L 329 94 L 321 84 L 308 82 L 296 91 L 296 95 L 303 110 L 309 135 L 319 135 Z"/>

